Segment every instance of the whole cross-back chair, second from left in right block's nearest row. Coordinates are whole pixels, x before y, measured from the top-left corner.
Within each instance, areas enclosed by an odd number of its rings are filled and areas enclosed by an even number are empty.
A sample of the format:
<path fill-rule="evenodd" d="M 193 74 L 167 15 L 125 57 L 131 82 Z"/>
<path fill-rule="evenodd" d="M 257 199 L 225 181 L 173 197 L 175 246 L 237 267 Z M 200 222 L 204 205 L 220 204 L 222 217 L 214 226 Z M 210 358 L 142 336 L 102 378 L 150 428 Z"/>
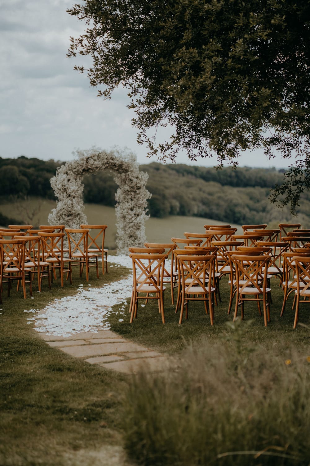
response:
<path fill-rule="evenodd" d="M 181 279 L 181 309 L 179 324 L 182 323 L 184 307 L 185 319 L 188 318 L 189 301 L 203 301 L 206 314 L 210 314 L 210 322 L 214 322 L 213 283 L 215 255 L 190 254 L 177 256 Z M 208 306 L 207 306 L 208 304 Z"/>

